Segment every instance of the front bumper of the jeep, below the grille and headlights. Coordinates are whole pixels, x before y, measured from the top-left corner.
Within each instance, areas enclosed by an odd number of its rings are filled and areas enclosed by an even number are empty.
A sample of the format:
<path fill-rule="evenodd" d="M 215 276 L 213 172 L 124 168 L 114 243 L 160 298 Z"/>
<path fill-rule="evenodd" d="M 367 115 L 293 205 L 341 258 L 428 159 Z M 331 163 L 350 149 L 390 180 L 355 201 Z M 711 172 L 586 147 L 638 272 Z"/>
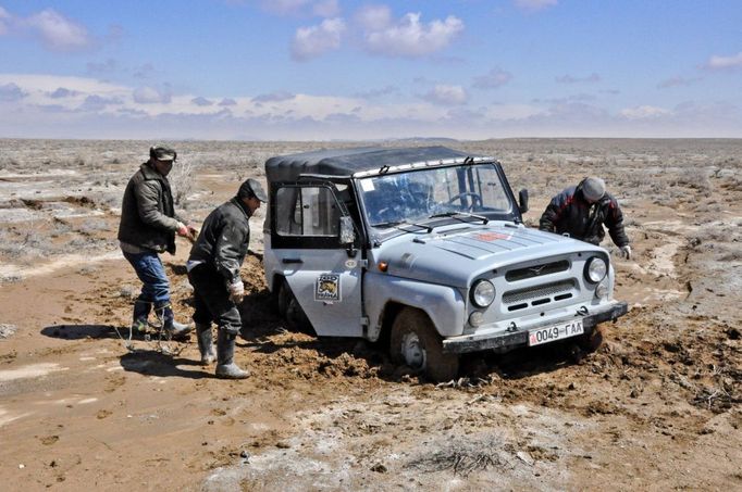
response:
<path fill-rule="evenodd" d="M 594 311 L 582 317 L 584 332 L 590 333 L 598 324 L 604 321 L 615 321 L 620 316 L 629 312 L 626 302 L 614 302 L 605 307 Z M 579 317 L 578 314 L 574 317 Z M 569 319 L 565 319 L 567 321 Z M 496 335 L 462 335 L 450 337 L 443 340 L 443 352 L 448 354 L 462 354 L 467 352 L 478 352 L 481 350 L 515 348 L 516 345 L 528 345 L 529 330 L 541 328 L 542 326 L 554 325 L 553 321 L 541 326 L 530 326 L 528 329 L 499 332 Z"/>

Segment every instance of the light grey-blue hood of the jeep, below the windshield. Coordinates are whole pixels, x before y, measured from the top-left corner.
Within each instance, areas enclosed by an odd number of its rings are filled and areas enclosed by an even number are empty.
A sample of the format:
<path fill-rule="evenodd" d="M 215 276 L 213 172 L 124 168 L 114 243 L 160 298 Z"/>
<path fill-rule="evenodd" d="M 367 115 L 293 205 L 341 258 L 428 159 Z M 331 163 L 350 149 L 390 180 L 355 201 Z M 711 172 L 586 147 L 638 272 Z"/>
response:
<path fill-rule="evenodd" d="M 487 270 L 576 252 L 601 251 L 588 242 L 511 223 L 438 227 L 384 242 L 378 261 L 387 262 L 389 275 L 468 288 Z"/>

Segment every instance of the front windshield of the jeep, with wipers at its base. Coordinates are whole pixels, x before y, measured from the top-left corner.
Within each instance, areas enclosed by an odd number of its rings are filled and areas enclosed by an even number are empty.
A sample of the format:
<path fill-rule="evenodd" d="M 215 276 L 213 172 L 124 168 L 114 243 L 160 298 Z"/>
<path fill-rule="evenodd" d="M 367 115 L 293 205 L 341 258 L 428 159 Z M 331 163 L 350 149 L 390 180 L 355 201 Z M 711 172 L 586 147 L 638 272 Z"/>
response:
<path fill-rule="evenodd" d="M 386 174 L 362 178 L 359 185 L 368 224 L 378 229 L 433 220 L 515 219 L 509 188 L 492 163 Z"/>

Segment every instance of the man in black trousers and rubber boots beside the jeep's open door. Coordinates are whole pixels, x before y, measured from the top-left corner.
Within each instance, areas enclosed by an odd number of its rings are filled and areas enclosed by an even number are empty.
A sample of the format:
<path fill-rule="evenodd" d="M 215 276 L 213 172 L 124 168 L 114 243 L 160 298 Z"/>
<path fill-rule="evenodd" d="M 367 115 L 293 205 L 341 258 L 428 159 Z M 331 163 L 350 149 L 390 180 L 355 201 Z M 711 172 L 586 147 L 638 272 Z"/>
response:
<path fill-rule="evenodd" d="M 236 197 L 206 218 L 186 264 L 194 286 L 194 321 L 203 365 L 214 361 L 211 323 L 217 324 L 218 378 L 250 376 L 234 363 L 235 338 L 243 327 L 237 304 L 245 295 L 239 268 L 250 242 L 249 218 L 267 200 L 260 182 L 243 182 Z"/>

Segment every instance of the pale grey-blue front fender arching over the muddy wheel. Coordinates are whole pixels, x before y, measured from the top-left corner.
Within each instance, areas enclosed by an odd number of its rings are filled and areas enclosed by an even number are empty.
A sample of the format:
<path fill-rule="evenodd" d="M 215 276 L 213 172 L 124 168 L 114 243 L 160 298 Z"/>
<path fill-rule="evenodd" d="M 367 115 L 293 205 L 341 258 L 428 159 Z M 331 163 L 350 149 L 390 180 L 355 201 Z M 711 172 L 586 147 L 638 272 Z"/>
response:
<path fill-rule="evenodd" d="M 379 339 L 384 308 L 391 302 L 425 312 L 444 338 L 463 332 L 466 303 L 461 292 L 454 287 L 367 273 L 363 276 L 363 295 L 369 317 L 367 338 L 371 341 Z"/>

